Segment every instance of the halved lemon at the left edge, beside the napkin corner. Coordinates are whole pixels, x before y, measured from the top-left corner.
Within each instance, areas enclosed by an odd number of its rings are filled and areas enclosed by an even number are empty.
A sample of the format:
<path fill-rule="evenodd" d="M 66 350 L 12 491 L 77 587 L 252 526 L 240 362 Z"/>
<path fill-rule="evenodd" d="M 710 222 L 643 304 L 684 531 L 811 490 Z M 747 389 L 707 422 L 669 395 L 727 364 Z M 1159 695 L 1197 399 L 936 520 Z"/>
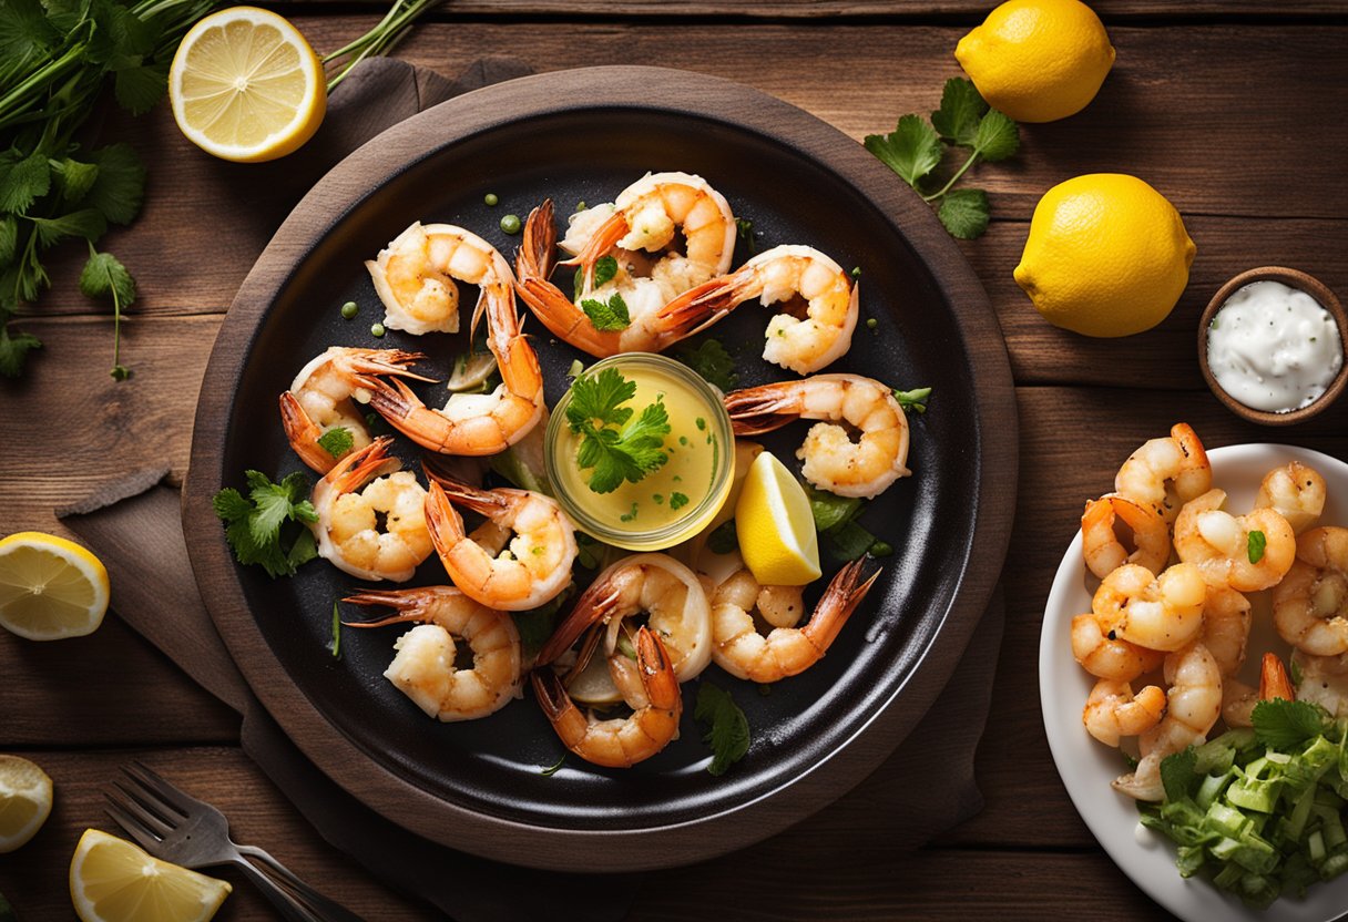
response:
<path fill-rule="evenodd" d="M 0 541 L 0 627 L 28 640 L 92 634 L 108 611 L 108 570 L 55 535 L 20 531 Z"/>

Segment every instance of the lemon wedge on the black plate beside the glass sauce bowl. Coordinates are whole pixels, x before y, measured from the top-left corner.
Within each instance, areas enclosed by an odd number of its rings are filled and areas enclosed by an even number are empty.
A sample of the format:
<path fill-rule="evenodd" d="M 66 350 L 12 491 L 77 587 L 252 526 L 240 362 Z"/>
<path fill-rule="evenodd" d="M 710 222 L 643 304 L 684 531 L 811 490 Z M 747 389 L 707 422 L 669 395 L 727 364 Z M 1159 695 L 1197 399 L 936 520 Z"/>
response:
<path fill-rule="evenodd" d="M 749 573 L 764 586 L 803 586 L 820 578 L 820 539 L 805 489 L 771 452 L 744 479 L 735 531 Z"/>

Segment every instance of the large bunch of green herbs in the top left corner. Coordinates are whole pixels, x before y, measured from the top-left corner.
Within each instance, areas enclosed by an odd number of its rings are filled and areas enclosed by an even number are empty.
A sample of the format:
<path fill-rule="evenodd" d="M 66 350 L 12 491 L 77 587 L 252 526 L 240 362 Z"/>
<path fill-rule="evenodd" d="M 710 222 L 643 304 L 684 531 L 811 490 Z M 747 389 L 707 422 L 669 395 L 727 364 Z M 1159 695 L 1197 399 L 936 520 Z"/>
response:
<path fill-rule="evenodd" d="M 0 375 L 20 375 L 27 353 L 42 345 L 9 321 L 50 284 L 42 259 L 62 240 L 85 241 L 80 290 L 112 301 L 120 332 L 136 283 L 94 244 L 140 212 L 146 168 L 129 146 L 84 147 L 75 132 L 109 85 L 132 115 L 163 98 L 178 42 L 216 3 L 0 3 Z M 115 332 L 112 376 L 124 380 L 117 341 Z"/>

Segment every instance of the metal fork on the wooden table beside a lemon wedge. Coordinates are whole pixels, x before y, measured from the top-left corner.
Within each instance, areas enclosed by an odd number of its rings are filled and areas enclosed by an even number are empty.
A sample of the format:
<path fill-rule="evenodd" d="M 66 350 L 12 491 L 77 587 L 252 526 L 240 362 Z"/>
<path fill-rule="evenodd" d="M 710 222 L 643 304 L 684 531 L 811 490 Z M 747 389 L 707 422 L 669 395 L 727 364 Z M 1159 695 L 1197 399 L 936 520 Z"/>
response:
<path fill-rule="evenodd" d="M 142 848 L 185 868 L 237 864 L 278 910 L 293 922 L 363 922 L 324 896 L 260 848 L 229 838 L 229 820 L 205 801 L 174 787 L 140 762 L 121 767 L 125 782 L 104 790 L 112 820 Z M 248 859 L 262 861 L 275 876 Z"/>

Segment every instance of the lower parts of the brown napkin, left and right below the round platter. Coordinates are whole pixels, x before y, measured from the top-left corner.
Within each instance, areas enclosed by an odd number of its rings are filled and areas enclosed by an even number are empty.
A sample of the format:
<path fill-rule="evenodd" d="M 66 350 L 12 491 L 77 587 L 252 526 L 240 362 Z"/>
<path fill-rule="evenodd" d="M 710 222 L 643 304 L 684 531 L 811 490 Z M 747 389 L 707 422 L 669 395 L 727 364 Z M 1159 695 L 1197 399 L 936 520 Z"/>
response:
<path fill-rule="evenodd" d="M 244 714 L 244 751 L 329 844 L 392 887 L 465 922 L 553 915 L 558 906 L 568 906 L 572 918 L 625 915 L 640 875 L 605 875 L 597 886 L 592 875 L 515 868 L 461 855 L 373 813 L 305 759 L 252 696 L 216 632 L 187 562 L 179 493 L 156 484 L 162 473 L 132 474 L 123 481 L 125 487 L 101 491 L 57 515 L 106 565 L 112 607 L 121 619 Z M 136 488 L 146 492 L 129 495 Z M 100 501 L 111 505 L 98 508 Z M 948 690 L 898 751 L 837 805 L 782 834 L 816 836 L 847 822 L 856 838 L 872 832 L 888 847 L 919 848 L 979 813 L 983 795 L 973 778 L 973 756 L 987 723 L 1003 627 L 999 589 Z M 918 779 L 923 783 L 902 783 Z M 849 809 L 849 803 L 864 809 Z M 876 817 L 874 828 L 857 829 L 857 816 Z M 508 904 L 499 902 L 500 894 L 510 894 Z M 581 906 L 584 915 L 577 915 Z"/>

